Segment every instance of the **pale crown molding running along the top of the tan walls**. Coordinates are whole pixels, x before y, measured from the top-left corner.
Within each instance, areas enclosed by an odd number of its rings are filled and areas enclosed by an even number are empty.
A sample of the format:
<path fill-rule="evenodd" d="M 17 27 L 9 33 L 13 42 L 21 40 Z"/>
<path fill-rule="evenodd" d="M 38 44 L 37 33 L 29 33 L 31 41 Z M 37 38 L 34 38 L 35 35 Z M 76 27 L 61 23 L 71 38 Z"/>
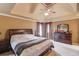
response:
<path fill-rule="evenodd" d="M 20 16 L 15 16 L 15 15 L 11 15 L 11 14 L 5 14 L 5 13 L 0 13 L 1 16 L 7 16 L 7 17 L 12 17 L 12 18 L 17 18 L 17 19 L 22 19 L 22 20 L 28 20 L 28 21 L 34 21 L 34 22 L 38 22 L 40 20 L 34 20 L 30 17 L 20 17 Z M 58 17 L 58 18 L 52 18 L 51 20 L 47 20 L 47 22 L 51 21 L 51 22 L 57 22 L 57 21 L 65 21 L 65 20 L 75 20 L 79 18 L 79 13 L 75 13 L 75 14 L 71 14 L 71 15 L 66 15 L 64 17 Z M 46 22 L 45 20 L 41 21 L 41 22 Z"/>

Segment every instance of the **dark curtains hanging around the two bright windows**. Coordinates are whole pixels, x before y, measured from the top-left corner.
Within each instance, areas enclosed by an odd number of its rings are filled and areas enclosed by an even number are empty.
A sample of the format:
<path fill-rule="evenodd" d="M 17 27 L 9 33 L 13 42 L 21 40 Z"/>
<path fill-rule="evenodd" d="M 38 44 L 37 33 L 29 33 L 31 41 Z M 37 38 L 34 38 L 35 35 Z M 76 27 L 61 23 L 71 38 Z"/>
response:
<path fill-rule="evenodd" d="M 37 22 L 37 36 L 52 38 L 52 22 Z"/>

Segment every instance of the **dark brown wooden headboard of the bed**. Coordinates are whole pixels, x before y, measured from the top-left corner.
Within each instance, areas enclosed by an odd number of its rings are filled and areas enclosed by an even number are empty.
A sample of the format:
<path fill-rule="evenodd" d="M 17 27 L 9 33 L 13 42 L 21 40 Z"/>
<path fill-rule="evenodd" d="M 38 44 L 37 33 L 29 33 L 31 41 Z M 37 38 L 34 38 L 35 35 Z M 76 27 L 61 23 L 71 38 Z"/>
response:
<path fill-rule="evenodd" d="M 5 39 L 8 43 L 8 45 L 10 45 L 10 39 L 12 35 L 15 34 L 33 34 L 32 29 L 8 29 L 5 35 Z"/>

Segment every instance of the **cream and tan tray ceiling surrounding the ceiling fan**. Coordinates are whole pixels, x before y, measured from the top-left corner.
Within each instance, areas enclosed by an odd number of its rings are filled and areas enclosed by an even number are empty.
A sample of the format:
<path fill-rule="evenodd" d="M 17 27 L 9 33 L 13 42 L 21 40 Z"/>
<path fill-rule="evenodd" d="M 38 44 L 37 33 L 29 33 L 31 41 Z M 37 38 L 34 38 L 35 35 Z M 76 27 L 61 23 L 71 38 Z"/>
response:
<path fill-rule="evenodd" d="M 48 17 L 46 7 L 41 3 L 0 3 L 0 14 L 31 19 L 35 21 L 62 21 L 78 17 L 78 3 L 56 3 L 49 9 L 52 14 Z M 42 11 L 41 11 L 42 10 Z"/>

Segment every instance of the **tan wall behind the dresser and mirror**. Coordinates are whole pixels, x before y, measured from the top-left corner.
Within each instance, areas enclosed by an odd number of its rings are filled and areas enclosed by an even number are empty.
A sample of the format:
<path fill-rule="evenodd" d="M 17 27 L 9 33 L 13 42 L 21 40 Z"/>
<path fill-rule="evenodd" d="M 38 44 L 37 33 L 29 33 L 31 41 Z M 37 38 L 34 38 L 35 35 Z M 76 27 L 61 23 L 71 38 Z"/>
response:
<path fill-rule="evenodd" d="M 69 30 L 72 32 L 72 44 L 78 43 L 78 20 L 59 21 L 53 23 L 53 29 L 56 29 L 58 24 L 69 24 Z"/>

